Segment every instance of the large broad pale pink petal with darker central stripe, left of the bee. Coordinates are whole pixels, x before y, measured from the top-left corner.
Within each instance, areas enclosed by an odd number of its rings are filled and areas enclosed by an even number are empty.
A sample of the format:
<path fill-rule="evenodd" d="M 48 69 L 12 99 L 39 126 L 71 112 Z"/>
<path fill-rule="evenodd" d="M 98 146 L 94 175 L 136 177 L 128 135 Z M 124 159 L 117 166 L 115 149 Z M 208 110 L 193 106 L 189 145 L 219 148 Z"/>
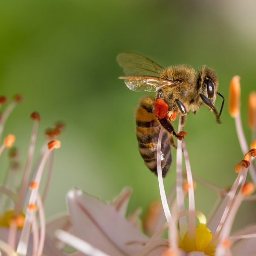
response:
<path fill-rule="evenodd" d="M 131 255 L 148 240 L 111 205 L 81 190 L 68 193 L 67 206 L 76 236 L 107 254 Z"/>

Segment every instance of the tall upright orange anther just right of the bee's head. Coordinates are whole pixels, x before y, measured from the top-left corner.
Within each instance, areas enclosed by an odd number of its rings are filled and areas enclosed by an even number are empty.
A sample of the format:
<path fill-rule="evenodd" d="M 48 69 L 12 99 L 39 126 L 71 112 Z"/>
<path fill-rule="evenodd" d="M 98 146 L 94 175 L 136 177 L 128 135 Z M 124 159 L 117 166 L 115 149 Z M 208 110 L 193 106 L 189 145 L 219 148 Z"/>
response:
<path fill-rule="evenodd" d="M 240 77 L 234 76 L 230 81 L 229 112 L 230 116 L 236 117 L 240 113 Z"/>

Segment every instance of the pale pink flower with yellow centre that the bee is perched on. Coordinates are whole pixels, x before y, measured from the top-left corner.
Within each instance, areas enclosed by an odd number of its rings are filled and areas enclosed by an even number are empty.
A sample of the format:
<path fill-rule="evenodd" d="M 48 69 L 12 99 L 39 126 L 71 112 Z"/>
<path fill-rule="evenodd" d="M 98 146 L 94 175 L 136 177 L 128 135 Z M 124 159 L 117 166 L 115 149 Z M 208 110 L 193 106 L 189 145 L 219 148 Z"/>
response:
<path fill-rule="evenodd" d="M 249 124 L 255 124 L 255 104 L 249 99 Z M 253 98 L 254 99 L 254 98 Z M 254 255 L 256 251 L 256 225 L 230 235 L 236 212 L 245 200 L 255 200 L 251 195 L 255 190 L 256 173 L 253 159 L 256 156 L 256 142 L 249 150 L 244 139 L 240 116 L 240 84 L 236 76 L 230 83 L 230 114 L 235 118 L 236 128 L 244 158 L 236 165 L 237 178 L 230 189 L 219 189 L 210 183 L 195 178 L 199 183 L 213 189 L 221 195 L 220 202 L 214 214 L 209 218 L 195 209 L 195 196 L 191 166 L 189 162 L 186 143 L 177 141 L 177 180 L 171 189 L 169 198 L 166 198 L 163 186 L 161 168 L 161 140 L 164 128 L 161 128 L 157 143 L 157 173 L 160 188 L 160 204 L 154 202 L 145 219 L 144 227 L 151 233 L 147 238 L 124 217 L 124 210 L 119 210 L 115 204 L 104 204 L 81 190 L 73 189 L 67 195 L 69 209 L 69 229 L 57 230 L 57 238 L 87 255 L 133 255 L 133 256 L 226 256 L 226 255 Z M 252 130 L 255 131 L 255 127 Z M 179 123 L 181 131 L 181 122 Z M 182 173 L 182 154 L 186 165 L 186 173 Z M 253 182 L 246 182 L 247 172 Z M 183 183 L 183 177 L 187 178 Z M 126 192 L 125 192 L 126 191 Z M 174 196 L 176 191 L 176 197 Z M 128 190 L 123 192 L 128 193 Z M 127 199 L 123 195 L 118 197 L 120 209 L 126 209 Z M 189 206 L 185 209 L 184 197 L 188 196 Z M 126 197 L 125 197 L 126 198 Z M 128 198 L 128 197 L 127 197 Z M 123 207 L 125 205 L 125 207 Z M 170 211 L 172 209 L 172 211 Z M 188 220 L 186 219 L 188 216 Z M 196 226 L 195 217 L 199 225 Z M 167 220 L 164 221 L 164 218 Z M 168 228 L 169 239 L 159 239 L 163 231 Z M 56 226 L 57 229 L 57 226 Z M 74 235 L 72 235 L 73 233 Z"/>

